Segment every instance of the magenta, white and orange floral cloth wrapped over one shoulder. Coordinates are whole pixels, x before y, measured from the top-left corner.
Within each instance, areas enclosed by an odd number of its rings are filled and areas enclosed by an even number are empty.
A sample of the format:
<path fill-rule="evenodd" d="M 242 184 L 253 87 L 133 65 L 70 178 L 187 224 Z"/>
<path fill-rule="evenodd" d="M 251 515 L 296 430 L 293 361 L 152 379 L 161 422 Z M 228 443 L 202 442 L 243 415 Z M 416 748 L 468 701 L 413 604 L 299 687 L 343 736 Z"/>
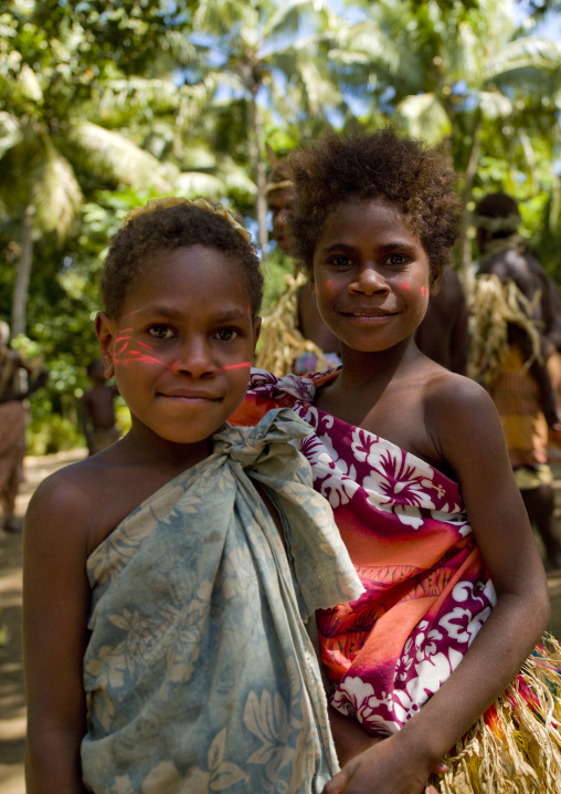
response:
<path fill-rule="evenodd" d="M 282 405 L 310 425 L 300 449 L 366 588 L 318 612 L 331 703 L 370 733 L 389 735 L 458 666 L 496 594 L 457 483 L 314 405 L 316 390 L 338 373 L 276 378 L 254 369 L 231 421 L 251 425 Z"/>

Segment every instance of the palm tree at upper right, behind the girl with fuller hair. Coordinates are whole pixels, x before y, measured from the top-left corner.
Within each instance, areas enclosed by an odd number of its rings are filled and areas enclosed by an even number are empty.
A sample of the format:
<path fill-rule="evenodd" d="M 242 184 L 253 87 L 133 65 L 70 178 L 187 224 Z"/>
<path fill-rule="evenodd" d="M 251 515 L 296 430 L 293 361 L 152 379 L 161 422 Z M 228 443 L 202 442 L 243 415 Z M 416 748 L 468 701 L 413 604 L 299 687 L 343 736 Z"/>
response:
<path fill-rule="evenodd" d="M 509 0 L 468 7 L 458 0 L 446 6 L 434 0 L 367 3 L 364 19 L 341 31 L 342 44 L 346 64 L 357 67 L 352 81 L 366 75 L 377 109 L 382 106 L 410 133 L 448 149 L 465 174 L 466 208 L 484 127 L 496 125 L 508 156 L 514 137 L 528 153 L 528 132 L 544 117 L 552 121 L 552 103 L 541 100 L 559 88 L 561 45 L 517 28 Z M 340 52 L 334 50 L 336 63 Z M 467 217 L 466 210 L 464 264 L 469 259 Z"/>

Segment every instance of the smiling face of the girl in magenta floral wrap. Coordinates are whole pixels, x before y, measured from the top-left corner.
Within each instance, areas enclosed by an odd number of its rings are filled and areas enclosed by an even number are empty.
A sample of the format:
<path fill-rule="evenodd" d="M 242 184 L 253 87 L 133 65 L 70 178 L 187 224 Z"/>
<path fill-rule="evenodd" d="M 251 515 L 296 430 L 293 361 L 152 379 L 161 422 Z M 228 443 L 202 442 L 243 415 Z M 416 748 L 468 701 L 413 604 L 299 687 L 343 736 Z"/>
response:
<path fill-rule="evenodd" d="M 428 259 L 402 213 L 381 199 L 341 202 L 314 253 L 319 312 L 338 338 L 362 352 L 410 337 L 425 315 Z"/>

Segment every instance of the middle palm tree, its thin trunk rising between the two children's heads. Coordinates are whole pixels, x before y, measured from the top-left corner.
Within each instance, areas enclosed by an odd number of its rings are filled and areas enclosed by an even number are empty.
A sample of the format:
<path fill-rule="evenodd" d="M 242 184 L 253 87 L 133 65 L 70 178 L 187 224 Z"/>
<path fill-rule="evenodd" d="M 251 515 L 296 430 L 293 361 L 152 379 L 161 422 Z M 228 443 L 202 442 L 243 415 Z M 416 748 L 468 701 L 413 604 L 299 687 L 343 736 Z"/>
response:
<path fill-rule="evenodd" d="M 256 191 L 258 241 L 267 251 L 264 114 L 286 122 L 298 114 L 325 115 L 339 98 L 321 67 L 326 28 L 334 15 L 322 0 L 198 0 L 190 39 L 207 75 L 245 103 L 247 145 Z M 200 75 L 199 75 L 200 76 Z M 267 109 L 265 109 L 267 108 Z"/>

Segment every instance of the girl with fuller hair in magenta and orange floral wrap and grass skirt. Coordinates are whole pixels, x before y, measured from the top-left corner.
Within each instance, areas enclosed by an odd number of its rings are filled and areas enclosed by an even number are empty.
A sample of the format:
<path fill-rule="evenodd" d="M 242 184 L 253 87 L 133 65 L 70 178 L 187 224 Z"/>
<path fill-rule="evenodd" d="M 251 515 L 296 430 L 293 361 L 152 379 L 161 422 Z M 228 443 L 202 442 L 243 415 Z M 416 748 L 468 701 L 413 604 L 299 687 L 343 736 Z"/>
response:
<path fill-rule="evenodd" d="M 313 426 L 301 450 L 366 587 L 318 617 L 343 766 L 325 792 L 419 794 L 447 753 L 442 792 L 559 792 L 560 657 L 527 658 L 548 592 L 500 422 L 414 343 L 456 175 L 392 129 L 330 134 L 292 166 L 298 255 L 342 366 L 256 372 L 236 421 L 283 405 Z"/>

